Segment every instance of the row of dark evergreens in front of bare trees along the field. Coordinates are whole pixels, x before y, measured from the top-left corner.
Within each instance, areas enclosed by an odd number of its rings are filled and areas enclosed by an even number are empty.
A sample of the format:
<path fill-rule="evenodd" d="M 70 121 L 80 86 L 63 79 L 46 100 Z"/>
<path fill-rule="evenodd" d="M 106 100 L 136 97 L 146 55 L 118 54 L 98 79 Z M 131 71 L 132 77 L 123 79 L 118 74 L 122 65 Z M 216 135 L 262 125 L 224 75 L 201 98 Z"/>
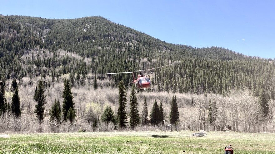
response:
<path fill-rule="evenodd" d="M 71 92 L 71 83 L 69 80 L 64 80 L 64 89 L 63 89 L 63 103 L 60 105 L 60 100 L 55 100 L 53 105 L 49 110 L 49 124 L 52 130 L 55 132 L 58 126 L 63 121 L 68 121 L 73 124 L 76 118 L 76 110 L 74 107 L 73 96 Z M 7 103 L 7 99 L 5 98 L 5 87 L 3 82 L 0 82 L 0 115 L 14 115 L 17 119 L 21 117 L 21 109 L 20 109 L 20 97 L 18 94 L 18 85 L 17 81 L 14 79 L 11 84 L 11 90 L 13 91 L 11 106 L 9 102 Z M 118 99 L 118 111 L 117 115 L 114 114 L 112 108 L 108 105 L 101 115 L 101 118 L 98 119 L 96 116 L 92 118 L 87 118 L 87 120 L 93 122 L 93 127 L 97 126 L 99 120 L 106 124 L 113 123 L 116 128 L 126 128 L 129 124 L 129 128 L 134 129 L 135 127 L 141 125 L 153 125 L 158 126 L 164 124 L 164 115 L 163 115 L 163 105 L 162 101 L 160 104 L 155 103 L 153 105 L 152 111 L 148 116 L 148 108 L 146 97 L 144 97 L 144 106 L 142 109 L 141 115 L 138 110 L 138 100 L 135 93 L 134 86 L 132 87 L 130 96 L 129 96 L 129 104 L 130 104 L 130 112 L 126 112 L 126 104 L 127 104 L 127 90 L 124 86 L 123 81 L 119 83 L 119 99 Z M 36 101 L 34 114 L 36 115 L 37 123 L 41 124 L 43 119 L 45 118 L 45 104 L 46 102 L 45 95 L 45 85 L 42 79 L 37 83 L 35 93 L 33 95 L 33 99 Z M 0 117 L 1 118 L 1 117 Z M 129 118 L 129 121 L 128 121 Z M 148 119 L 150 118 L 150 120 Z M 171 102 L 171 111 L 169 122 L 171 124 L 179 124 L 179 112 L 176 97 L 173 96 Z"/>

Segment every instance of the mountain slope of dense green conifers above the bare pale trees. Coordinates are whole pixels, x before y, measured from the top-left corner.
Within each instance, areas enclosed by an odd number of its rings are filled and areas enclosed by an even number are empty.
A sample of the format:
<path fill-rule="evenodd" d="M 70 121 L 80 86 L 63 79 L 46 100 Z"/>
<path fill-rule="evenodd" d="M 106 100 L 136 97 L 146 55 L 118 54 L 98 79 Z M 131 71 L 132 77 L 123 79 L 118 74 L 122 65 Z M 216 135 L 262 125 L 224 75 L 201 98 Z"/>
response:
<path fill-rule="evenodd" d="M 54 82 L 69 73 L 71 82 L 81 85 L 92 73 L 100 80 L 128 83 L 131 74 L 105 73 L 178 63 L 153 71 L 151 80 L 158 91 L 225 95 L 230 89 L 251 89 L 258 96 L 264 88 L 274 99 L 274 62 L 221 47 L 169 44 L 103 17 L 56 20 L 0 15 L 2 81 L 41 75 Z"/>

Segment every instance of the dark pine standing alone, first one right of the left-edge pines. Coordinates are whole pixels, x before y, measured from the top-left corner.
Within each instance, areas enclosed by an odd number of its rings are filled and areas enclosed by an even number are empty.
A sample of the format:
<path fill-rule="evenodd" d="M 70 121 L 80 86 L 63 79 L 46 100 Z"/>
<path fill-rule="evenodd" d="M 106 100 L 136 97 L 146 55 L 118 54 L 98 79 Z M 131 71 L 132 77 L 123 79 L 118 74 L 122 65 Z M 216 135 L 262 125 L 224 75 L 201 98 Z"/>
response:
<path fill-rule="evenodd" d="M 40 80 L 36 94 L 34 94 L 33 96 L 37 102 L 37 104 L 35 105 L 34 113 L 36 114 L 36 118 L 38 119 L 39 124 L 44 119 L 44 105 L 46 104 L 46 96 L 44 92 L 44 84 L 42 80 Z"/>

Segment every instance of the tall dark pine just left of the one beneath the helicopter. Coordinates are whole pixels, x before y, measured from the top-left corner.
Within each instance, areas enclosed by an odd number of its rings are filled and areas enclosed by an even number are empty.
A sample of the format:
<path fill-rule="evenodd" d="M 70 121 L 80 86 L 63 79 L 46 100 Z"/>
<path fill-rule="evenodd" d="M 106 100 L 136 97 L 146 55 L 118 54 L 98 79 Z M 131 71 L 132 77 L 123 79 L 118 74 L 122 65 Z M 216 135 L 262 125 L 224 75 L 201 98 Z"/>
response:
<path fill-rule="evenodd" d="M 120 128 L 126 127 L 127 123 L 127 114 L 126 114 L 126 103 L 127 103 L 127 94 L 123 81 L 121 80 L 118 85 L 118 126 Z"/>

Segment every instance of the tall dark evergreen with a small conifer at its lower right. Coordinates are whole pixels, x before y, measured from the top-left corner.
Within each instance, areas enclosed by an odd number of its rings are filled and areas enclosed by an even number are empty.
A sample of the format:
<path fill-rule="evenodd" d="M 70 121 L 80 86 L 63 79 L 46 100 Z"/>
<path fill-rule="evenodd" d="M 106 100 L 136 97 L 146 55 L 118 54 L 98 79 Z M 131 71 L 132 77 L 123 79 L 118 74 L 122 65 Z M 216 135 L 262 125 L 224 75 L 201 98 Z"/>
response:
<path fill-rule="evenodd" d="M 72 108 L 70 114 L 74 114 L 74 116 L 70 115 L 70 118 L 75 118 L 75 110 L 74 110 L 74 102 L 73 102 L 73 95 L 71 92 L 71 88 L 69 86 L 69 80 L 64 81 L 64 91 L 63 91 L 63 105 L 62 105 L 62 112 L 63 112 L 63 120 L 66 120 L 68 111 Z M 71 119 L 70 119 L 71 120 Z"/>

